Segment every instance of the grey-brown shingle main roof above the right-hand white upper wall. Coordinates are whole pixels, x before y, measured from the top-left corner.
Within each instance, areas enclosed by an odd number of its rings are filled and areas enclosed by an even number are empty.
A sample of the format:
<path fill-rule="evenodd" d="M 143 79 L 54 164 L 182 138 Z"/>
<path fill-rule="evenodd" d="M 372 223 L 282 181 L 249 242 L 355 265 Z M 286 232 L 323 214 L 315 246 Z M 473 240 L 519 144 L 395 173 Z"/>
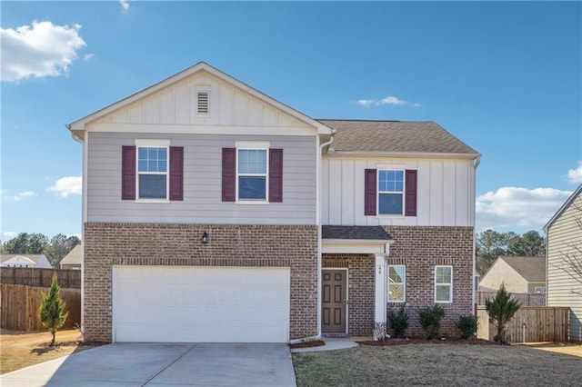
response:
<path fill-rule="evenodd" d="M 336 129 L 336 152 L 478 154 L 434 122 L 318 121 Z"/>

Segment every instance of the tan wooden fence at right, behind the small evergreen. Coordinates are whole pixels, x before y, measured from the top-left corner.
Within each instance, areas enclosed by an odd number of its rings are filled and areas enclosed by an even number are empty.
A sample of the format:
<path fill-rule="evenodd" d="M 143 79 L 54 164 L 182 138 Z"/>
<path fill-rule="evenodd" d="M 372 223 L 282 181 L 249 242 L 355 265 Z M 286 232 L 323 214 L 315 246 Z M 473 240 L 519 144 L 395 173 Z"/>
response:
<path fill-rule="evenodd" d="M 570 308 L 522 306 L 507 323 L 509 342 L 566 342 Z M 477 337 L 493 341 L 496 328 L 484 306 L 477 307 Z"/>

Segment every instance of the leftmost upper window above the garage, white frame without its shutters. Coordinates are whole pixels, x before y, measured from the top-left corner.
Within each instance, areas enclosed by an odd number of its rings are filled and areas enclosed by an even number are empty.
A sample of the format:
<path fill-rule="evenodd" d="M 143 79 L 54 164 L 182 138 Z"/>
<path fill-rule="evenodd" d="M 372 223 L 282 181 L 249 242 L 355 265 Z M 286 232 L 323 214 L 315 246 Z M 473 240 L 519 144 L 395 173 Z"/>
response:
<path fill-rule="evenodd" d="M 169 141 L 136 140 L 137 200 L 168 200 Z"/>

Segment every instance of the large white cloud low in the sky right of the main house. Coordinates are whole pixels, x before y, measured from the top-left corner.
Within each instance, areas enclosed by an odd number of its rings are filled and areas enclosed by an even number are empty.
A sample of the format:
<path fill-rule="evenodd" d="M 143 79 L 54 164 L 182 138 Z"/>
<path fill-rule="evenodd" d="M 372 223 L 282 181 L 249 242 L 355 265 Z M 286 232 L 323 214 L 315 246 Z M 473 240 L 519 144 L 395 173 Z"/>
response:
<path fill-rule="evenodd" d="M 554 188 L 501 187 L 477 196 L 477 232 L 512 227 L 541 230 L 571 193 Z"/>

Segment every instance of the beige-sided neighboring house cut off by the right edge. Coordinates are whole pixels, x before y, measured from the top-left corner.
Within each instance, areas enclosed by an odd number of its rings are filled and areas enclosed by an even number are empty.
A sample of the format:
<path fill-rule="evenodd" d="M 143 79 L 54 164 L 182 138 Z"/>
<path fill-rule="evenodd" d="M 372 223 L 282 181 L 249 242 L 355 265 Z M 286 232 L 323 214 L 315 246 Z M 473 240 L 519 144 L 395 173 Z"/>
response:
<path fill-rule="evenodd" d="M 582 184 L 544 226 L 547 306 L 570 308 L 570 340 L 582 341 Z"/>

